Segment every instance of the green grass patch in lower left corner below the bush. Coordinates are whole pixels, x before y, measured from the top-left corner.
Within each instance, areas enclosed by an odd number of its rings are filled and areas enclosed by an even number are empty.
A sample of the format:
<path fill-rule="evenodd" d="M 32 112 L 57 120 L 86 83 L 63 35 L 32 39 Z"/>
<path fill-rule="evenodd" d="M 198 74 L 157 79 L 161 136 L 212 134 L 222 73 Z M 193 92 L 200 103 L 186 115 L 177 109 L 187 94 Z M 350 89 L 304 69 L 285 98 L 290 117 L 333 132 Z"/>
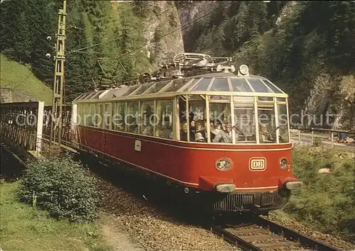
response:
<path fill-rule="evenodd" d="M 20 203 L 18 182 L 0 184 L 0 248 L 4 251 L 109 251 L 95 224 L 56 221 Z"/>

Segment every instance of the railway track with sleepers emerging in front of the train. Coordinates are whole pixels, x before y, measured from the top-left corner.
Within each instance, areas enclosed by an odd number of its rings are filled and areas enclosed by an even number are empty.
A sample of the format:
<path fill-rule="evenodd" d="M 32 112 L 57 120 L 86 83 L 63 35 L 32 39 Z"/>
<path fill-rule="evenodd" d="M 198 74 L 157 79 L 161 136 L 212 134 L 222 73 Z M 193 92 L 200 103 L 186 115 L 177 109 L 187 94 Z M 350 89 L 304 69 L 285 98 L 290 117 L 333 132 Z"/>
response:
<path fill-rule="evenodd" d="M 261 217 L 240 225 L 212 225 L 211 230 L 243 250 L 340 251 L 337 247 L 331 247 Z"/>

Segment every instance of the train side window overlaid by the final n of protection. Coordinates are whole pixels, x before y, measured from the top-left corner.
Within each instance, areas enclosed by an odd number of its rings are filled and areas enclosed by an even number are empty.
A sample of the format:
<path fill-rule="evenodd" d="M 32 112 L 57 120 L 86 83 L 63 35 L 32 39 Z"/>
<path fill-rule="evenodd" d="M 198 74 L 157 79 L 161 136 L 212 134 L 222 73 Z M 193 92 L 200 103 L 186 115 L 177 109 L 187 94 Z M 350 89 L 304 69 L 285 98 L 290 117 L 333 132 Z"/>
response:
<path fill-rule="evenodd" d="M 173 139 L 173 100 L 156 101 L 155 136 Z"/>

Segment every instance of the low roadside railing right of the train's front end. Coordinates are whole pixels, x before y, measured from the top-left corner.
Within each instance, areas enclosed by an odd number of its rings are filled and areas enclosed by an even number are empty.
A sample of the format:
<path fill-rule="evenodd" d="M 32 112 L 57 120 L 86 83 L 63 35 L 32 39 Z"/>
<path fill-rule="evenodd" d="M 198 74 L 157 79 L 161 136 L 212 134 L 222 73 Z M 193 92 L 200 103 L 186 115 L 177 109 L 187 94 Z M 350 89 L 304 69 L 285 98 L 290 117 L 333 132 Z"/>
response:
<path fill-rule="evenodd" d="M 349 143 L 354 142 L 354 135 L 355 132 L 351 130 L 336 130 L 336 129 L 324 129 L 324 128 L 301 128 L 301 127 L 293 127 L 291 129 L 291 134 L 293 134 L 293 130 L 297 130 L 297 135 L 298 135 L 298 143 L 301 143 L 301 134 L 302 132 L 304 133 L 310 133 L 311 137 L 311 144 L 315 143 L 315 138 L 317 138 L 317 135 L 315 133 L 324 133 L 324 135 L 329 135 L 326 139 L 330 138 L 330 144 L 332 147 L 334 147 L 334 140 L 336 139 L 334 136 L 334 133 L 340 134 L 340 139 L 349 139 Z M 318 135 L 319 136 L 319 135 Z M 318 137 L 318 138 L 323 138 L 323 137 Z"/>

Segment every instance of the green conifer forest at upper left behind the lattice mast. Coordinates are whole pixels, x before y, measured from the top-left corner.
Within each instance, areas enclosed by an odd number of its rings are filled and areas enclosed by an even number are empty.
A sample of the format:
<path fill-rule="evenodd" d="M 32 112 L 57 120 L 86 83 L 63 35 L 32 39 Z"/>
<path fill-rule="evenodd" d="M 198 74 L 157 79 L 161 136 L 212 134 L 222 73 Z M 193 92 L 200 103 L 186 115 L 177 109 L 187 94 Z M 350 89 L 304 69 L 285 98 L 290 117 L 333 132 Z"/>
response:
<path fill-rule="evenodd" d="M 45 54 L 55 55 L 61 2 L 4 1 L 0 8 L 4 35 L 1 52 L 31 65 L 36 77 L 53 86 L 54 61 L 47 60 Z M 110 1 L 67 1 L 65 101 L 72 101 L 93 84 L 121 82 L 151 67 L 143 49 L 143 21 L 153 11 L 148 1 L 117 5 Z M 46 39 L 48 35 L 53 38 L 51 42 Z M 87 49 L 75 52 L 82 48 Z M 133 56 L 122 57 L 126 53 Z"/>

